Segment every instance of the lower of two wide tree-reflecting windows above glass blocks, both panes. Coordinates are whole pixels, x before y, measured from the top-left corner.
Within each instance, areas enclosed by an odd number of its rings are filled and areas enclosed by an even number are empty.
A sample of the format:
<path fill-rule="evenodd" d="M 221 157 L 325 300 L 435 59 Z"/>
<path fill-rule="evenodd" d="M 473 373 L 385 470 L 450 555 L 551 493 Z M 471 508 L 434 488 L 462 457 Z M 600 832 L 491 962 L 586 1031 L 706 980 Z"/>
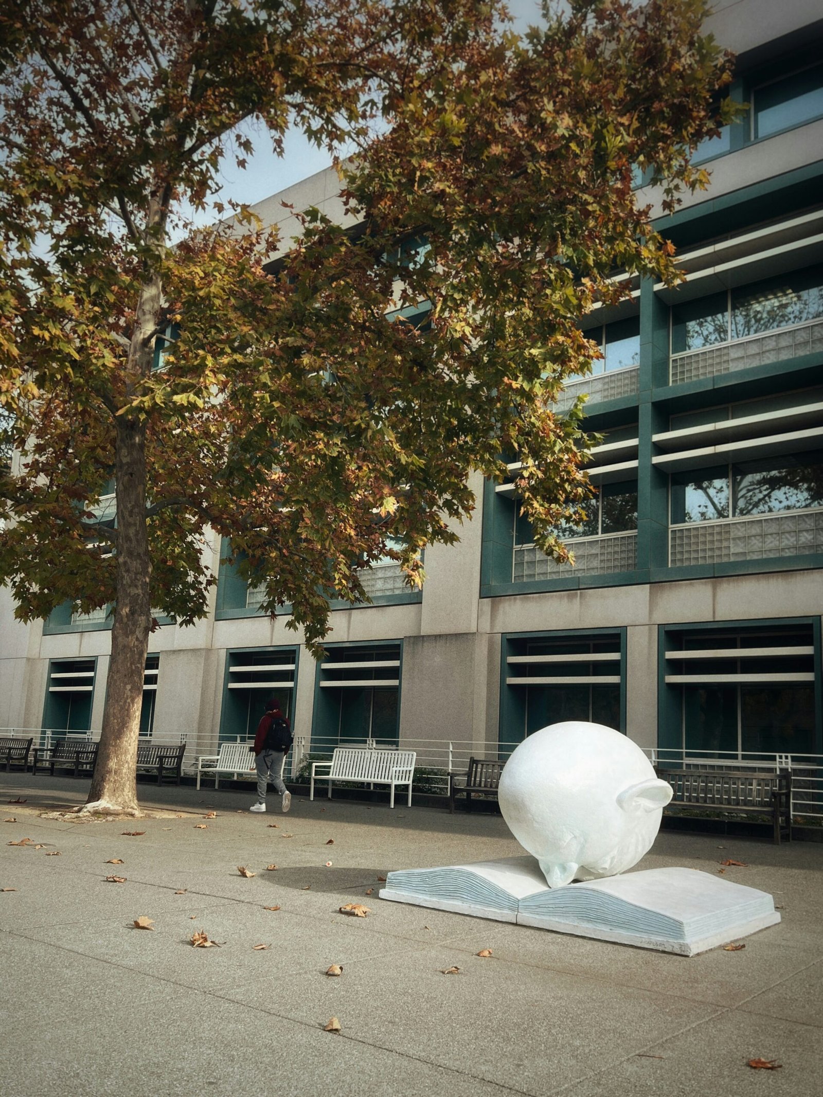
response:
<path fill-rule="evenodd" d="M 823 451 L 672 476 L 674 525 L 818 507 L 823 507 Z"/>

